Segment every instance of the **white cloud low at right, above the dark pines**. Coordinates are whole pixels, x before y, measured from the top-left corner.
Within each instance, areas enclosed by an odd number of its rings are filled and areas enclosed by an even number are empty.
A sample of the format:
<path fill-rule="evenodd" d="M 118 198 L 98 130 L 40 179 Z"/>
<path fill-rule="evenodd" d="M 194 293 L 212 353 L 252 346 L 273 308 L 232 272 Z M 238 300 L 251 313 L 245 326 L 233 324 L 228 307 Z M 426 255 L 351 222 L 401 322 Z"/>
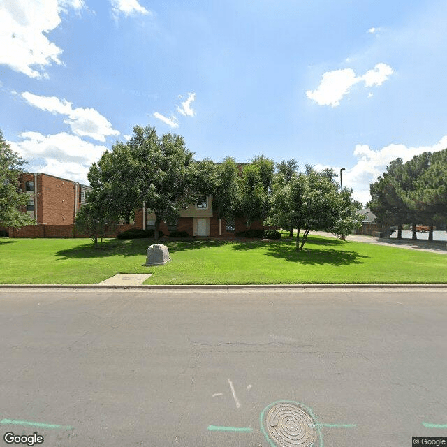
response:
<path fill-rule="evenodd" d="M 386 172 L 386 167 L 391 161 L 401 158 L 404 163 L 415 155 L 423 152 L 439 152 L 447 147 L 447 135 L 432 146 L 407 147 L 406 145 L 391 144 L 381 149 L 371 149 L 368 145 L 356 145 L 353 155 L 356 157 L 356 164 L 343 172 L 343 186 L 353 189 L 353 198 L 365 205 L 371 196 L 369 185 Z M 323 168 L 333 168 L 339 174 L 340 167 L 315 166 L 317 170 Z"/>

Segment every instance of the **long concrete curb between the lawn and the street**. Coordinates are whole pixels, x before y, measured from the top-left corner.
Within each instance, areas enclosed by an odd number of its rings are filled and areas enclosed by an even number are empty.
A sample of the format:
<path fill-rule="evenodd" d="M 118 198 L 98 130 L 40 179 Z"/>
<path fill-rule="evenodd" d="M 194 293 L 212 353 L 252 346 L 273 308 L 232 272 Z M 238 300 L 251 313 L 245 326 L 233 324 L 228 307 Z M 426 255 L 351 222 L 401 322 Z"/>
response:
<path fill-rule="evenodd" d="M 446 289 L 447 284 L 191 284 L 191 285 L 106 285 L 106 284 L 0 284 L 0 290 L 5 288 L 66 288 L 66 289 L 138 289 L 138 290 L 185 290 L 185 289 L 210 289 L 210 290 L 243 290 L 249 288 L 280 288 L 280 289 L 305 289 L 305 288 L 437 288 Z"/>

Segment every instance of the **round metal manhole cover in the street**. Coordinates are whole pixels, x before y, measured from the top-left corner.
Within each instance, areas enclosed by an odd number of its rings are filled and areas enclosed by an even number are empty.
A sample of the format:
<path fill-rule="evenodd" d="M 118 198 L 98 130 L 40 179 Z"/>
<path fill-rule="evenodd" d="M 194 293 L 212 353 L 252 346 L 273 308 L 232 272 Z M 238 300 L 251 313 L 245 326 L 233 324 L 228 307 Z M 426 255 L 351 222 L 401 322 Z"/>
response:
<path fill-rule="evenodd" d="M 291 402 L 274 404 L 265 416 L 265 428 L 279 447 L 312 447 L 317 437 L 314 418 Z"/>

